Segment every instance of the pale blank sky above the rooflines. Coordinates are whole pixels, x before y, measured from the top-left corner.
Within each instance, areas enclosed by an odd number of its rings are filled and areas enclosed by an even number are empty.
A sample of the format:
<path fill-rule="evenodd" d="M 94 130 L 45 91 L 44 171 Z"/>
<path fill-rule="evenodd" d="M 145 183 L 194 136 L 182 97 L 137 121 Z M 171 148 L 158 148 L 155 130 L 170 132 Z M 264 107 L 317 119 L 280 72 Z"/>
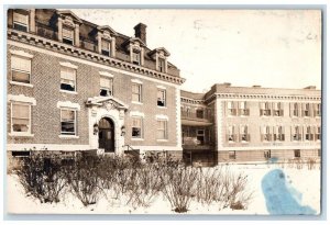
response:
<path fill-rule="evenodd" d="M 183 89 L 213 83 L 321 88 L 321 13 L 308 10 L 73 10 L 79 18 L 165 47 L 186 78 Z"/>

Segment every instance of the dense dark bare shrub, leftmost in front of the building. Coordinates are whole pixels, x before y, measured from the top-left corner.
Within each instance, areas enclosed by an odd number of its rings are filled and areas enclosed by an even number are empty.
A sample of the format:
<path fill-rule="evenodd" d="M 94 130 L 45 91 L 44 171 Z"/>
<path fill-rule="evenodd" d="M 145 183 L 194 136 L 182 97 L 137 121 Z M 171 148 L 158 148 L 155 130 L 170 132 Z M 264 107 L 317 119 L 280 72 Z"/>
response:
<path fill-rule="evenodd" d="M 20 182 L 26 193 L 43 202 L 59 202 L 59 193 L 67 184 L 65 171 L 61 169 L 61 159 L 46 153 L 33 155 L 22 160 L 18 170 Z"/>

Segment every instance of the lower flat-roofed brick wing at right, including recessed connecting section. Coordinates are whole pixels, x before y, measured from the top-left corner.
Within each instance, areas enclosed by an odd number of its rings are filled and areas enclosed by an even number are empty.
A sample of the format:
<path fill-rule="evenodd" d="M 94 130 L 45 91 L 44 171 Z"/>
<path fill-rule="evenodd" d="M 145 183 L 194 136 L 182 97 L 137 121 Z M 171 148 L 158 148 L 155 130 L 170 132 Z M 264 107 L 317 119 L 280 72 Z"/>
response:
<path fill-rule="evenodd" d="M 208 161 L 211 157 L 217 161 L 265 161 L 321 155 L 321 92 L 315 87 L 223 83 L 205 94 L 182 91 L 182 121 L 188 159 L 197 151 L 200 159 L 200 150 L 207 153 Z"/>

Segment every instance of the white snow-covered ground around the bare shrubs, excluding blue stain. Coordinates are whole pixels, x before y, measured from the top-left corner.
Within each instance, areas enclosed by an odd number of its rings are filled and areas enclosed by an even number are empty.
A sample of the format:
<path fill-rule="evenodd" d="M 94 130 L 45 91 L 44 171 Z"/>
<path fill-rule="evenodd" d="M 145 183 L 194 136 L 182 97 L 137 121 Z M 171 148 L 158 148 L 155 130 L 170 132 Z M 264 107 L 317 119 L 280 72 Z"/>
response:
<path fill-rule="evenodd" d="M 317 214 L 320 213 L 320 166 L 308 170 L 282 168 L 280 165 L 230 165 L 230 169 L 237 172 L 248 175 L 249 190 L 253 191 L 253 199 L 246 210 L 219 209 L 219 205 L 202 205 L 191 202 L 189 211 L 186 214 L 250 214 L 263 215 L 270 214 L 266 206 L 265 195 L 262 189 L 262 180 L 265 176 L 275 169 L 283 170 L 288 189 L 294 189 L 298 196 L 297 202 L 304 206 L 309 206 Z M 8 191 L 8 212 L 18 214 L 176 214 L 169 202 L 158 195 L 147 207 L 133 209 L 125 205 L 127 200 L 106 199 L 102 196 L 96 204 L 84 206 L 82 203 L 73 194 L 66 194 L 61 198 L 59 203 L 41 203 L 38 200 L 28 196 L 23 187 L 15 175 L 9 175 L 7 180 Z M 299 194 L 300 193 L 300 194 Z M 297 195 L 297 194 L 296 194 Z"/>

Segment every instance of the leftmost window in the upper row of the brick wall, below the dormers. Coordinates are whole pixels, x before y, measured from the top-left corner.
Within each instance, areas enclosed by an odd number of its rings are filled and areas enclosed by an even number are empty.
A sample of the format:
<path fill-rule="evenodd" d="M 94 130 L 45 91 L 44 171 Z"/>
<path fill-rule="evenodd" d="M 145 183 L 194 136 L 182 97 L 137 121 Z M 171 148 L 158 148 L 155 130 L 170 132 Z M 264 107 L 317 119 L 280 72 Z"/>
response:
<path fill-rule="evenodd" d="M 16 55 L 11 56 L 11 76 L 12 81 L 30 83 L 31 59 Z"/>

